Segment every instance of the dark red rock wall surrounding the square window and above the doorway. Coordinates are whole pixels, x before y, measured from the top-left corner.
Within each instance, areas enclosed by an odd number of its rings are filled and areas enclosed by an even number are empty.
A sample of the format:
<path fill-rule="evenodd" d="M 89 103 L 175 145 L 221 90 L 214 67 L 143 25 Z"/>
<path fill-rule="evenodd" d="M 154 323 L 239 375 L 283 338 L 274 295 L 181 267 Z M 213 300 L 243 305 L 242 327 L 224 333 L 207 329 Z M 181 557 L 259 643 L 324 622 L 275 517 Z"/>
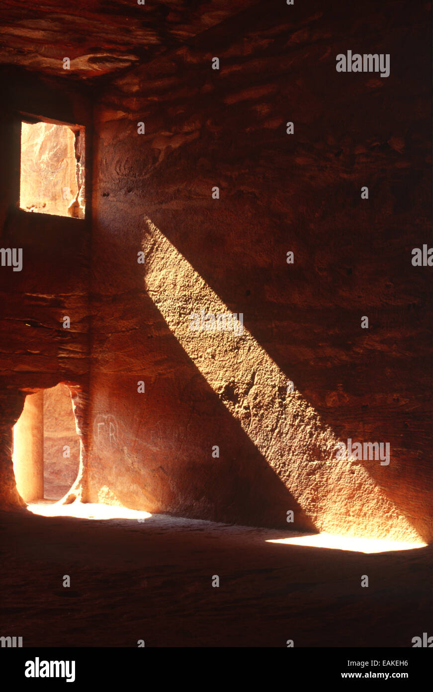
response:
<path fill-rule="evenodd" d="M 2 69 L 0 88 L 1 247 L 22 248 L 23 258 L 21 271 L 0 267 L 0 487 L 1 507 L 10 507 L 20 502 L 10 457 L 11 427 L 26 392 L 59 381 L 82 391 L 88 375 L 90 217 L 19 209 L 20 111 L 84 125 L 90 138 L 91 111 L 82 90 L 62 83 L 59 91 L 55 80 L 19 70 Z M 64 316 L 70 317 L 69 329 L 63 327 Z"/>

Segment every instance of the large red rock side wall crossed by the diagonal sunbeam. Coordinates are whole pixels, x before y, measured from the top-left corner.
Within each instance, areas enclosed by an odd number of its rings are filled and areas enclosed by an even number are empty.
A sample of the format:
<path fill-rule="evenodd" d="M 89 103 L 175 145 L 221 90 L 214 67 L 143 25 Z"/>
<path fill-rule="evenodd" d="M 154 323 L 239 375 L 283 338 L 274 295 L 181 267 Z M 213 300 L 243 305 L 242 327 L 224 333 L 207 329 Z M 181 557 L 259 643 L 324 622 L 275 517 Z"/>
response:
<path fill-rule="evenodd" d="M 102 93 L 90 500 L 431 539 L 429 11 L 262 3 Z M 389 77 L 337 73 L 349 49 Z M 189 331 L 201 308 L 244 335 Z"/>

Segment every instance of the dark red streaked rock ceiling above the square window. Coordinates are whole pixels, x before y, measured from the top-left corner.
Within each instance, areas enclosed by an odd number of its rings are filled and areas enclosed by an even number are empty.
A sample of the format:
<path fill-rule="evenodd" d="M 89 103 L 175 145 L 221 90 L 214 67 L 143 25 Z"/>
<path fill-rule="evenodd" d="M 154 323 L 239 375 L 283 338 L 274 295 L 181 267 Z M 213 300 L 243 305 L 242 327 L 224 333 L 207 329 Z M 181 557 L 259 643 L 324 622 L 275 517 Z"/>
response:
<path fill-rule="evenodd" d="M 3 0 L 0 64 L 94 80 L 182 46 L 256 1 Z"/>

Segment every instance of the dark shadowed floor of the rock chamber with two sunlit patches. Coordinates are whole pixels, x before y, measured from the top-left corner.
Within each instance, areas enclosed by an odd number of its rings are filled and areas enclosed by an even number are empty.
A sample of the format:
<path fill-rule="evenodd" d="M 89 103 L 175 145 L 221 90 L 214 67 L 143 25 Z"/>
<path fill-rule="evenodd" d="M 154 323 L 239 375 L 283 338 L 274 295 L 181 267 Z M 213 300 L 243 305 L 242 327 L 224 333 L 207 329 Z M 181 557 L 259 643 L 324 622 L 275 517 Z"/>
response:
<path fill-rule="evenodd" d="M 100 505 L 32 509 L 75 516 L 0 513 L 0 634 L 23 646 L 407 647 L 431 629 L 431 546 L 358 552 L 381 546 L 269 543 L 296 534 Z"/>

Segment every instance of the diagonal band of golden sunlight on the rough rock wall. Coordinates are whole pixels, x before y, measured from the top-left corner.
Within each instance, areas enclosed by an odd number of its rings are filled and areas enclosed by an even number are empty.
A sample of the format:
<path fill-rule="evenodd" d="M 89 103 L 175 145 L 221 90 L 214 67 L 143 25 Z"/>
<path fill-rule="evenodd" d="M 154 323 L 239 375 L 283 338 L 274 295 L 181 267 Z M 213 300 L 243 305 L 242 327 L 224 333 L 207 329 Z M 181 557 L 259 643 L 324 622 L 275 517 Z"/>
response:
<path fill-rule="evenodd" d="M 193 266 L 145 219 L 148 295 L 177 341 L 319 531 L 421 543 L 359 462 L 336 459 L 340 440 L 249 333 L 211 329 L 231 313 Z M 199 322 L 191 318 L 195 313 Z M 239 318 L 239 316 L 238 316 Z M 206 325 L 208 328 L 206 328 Z M 242 331 L 242 333 L 240 333 Z M 378 463 L 378 462 L 369 462 Z M 387 473 L 387 466 L 381 467 Z M 296 518 L 294 521 L 296 525 Z M 288 525 L 289 528 L 289 525 Z"/>

